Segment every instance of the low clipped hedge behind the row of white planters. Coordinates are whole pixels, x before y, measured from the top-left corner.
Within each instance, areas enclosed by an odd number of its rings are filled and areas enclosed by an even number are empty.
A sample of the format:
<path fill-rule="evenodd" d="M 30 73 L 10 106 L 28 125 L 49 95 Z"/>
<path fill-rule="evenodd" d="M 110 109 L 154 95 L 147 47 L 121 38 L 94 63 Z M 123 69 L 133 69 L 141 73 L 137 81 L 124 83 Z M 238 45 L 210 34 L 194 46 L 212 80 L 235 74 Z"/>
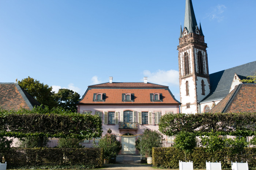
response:
<path fill-rule="evenodd" d="M 179 161 L 185 161 L 184 151 L 177 148 L 153 148 L 153 166 L 158 168 L 178 169 Z M 214 161 L 221 161 L 222 169 L 231 169 L 231 161 L 238 161 L 229 148 L 224 148 L 213 155 Z M 240 155 L 243 162 L 248 161 L 249 169 L 256 169 L 256 148 L 245 148 L 245 153 Z M 193 161 L 194 169 L 206 169 L 206 161 L 212 161 L 212 155 L 205 148 L 195 148 L 187 154 L 187 160 Z"/>

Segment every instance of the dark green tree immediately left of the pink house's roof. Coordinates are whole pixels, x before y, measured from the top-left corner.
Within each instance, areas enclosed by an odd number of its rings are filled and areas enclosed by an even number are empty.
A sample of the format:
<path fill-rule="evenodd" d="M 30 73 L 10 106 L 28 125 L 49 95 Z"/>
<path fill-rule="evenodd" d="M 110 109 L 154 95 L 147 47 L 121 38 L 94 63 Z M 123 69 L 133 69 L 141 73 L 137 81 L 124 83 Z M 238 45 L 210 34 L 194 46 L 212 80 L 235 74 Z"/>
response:
<path fill-rule="evenodd" d="M 54 94 L 54 100 L 58 106 L 65 109 L 76 112 L 76 102 L 79 101 L 80 95 L 73 90 L 59 89 L 58 93 Z"/>

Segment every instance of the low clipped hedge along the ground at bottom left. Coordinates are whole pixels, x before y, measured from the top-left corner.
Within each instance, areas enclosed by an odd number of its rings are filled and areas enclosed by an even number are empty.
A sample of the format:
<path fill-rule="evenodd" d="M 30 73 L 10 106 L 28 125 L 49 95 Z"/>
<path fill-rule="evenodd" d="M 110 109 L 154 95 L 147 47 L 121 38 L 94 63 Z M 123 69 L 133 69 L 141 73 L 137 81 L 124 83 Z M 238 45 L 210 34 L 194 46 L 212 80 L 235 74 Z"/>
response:
<path fill-rule="evenodd" d="M 103 165 L 101 148 L 10 148 L 0 151 L 8 169 L 92 169 Z"/>

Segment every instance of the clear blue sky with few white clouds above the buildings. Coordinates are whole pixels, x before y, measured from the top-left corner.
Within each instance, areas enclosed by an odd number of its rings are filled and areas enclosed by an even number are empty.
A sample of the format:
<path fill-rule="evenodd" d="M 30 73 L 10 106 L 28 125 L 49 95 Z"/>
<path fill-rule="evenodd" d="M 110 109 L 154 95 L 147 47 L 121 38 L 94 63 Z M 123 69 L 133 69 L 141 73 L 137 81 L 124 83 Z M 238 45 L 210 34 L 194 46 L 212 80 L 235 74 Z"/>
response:
<path fill-rule="evenodd" d="M 192 0 L 209 72 L 256 60 L 255 0 Z M 28 76 L 69 88 L 168 85 L 179 100 L 178 37 L 185 0 L 1 0 L 0 82 Z"/>

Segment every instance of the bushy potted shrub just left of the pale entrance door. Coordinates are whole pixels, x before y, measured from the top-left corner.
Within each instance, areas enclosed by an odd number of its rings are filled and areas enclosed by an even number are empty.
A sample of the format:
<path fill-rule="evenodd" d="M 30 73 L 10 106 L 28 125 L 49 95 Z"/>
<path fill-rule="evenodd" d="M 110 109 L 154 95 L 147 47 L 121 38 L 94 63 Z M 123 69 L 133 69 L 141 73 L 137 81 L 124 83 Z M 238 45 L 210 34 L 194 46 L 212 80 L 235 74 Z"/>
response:
<path fill-rule="evenodd" d="M 111 131 L 111 130 L 110 130 Z M 111 132 L 110 132 L 111 133 Z M 109 163 L 111 158 L 116 159 L 116 155 L 122 149 L 121 142 L 116 140 L 116 136 L 106 134 L 99 140 L 99 147 L 104 150 L 104 162 Z"/>

